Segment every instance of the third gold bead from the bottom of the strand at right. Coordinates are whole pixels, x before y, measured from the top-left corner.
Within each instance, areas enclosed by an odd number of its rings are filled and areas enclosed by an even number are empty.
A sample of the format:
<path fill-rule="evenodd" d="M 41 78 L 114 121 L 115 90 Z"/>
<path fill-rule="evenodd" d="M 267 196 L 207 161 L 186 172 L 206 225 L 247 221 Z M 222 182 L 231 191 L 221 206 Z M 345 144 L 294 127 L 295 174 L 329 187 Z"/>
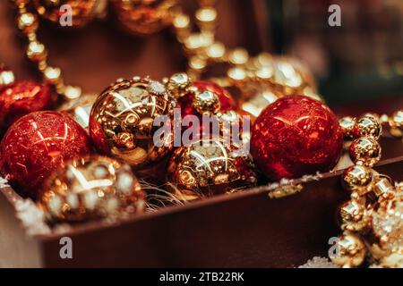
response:
<path fill-rule="evenodd" d="M 370 190 L 373 172 L 364 165 L 353 165 L 343 172 L 342 179 L 348 190 L 362 196 Z"/>

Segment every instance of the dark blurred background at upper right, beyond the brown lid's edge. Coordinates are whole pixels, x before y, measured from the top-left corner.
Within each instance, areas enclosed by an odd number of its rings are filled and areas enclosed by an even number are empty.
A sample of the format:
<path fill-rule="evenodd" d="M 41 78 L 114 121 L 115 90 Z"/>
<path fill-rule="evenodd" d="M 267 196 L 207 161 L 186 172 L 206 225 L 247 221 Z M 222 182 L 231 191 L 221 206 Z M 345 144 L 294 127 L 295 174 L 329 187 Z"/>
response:
<path fill-rule="evenodd" d="M 270 49 L 308 63 L 330 105 L 403 95 L 402 0 L 266 4 Z M 328 24 L 330 4 L 339 4 L 340 27 Z"/>

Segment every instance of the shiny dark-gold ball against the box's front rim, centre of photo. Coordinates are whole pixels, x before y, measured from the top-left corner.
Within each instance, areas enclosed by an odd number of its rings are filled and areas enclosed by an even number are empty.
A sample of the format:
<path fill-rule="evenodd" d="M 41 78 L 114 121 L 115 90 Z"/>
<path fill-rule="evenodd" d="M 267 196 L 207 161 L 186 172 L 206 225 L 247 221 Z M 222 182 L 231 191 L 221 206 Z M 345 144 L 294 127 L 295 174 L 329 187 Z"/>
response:
<path fill-rule="evenodd" d="M 180 201 L 210 197 L 256 184 L 250 156 L 223 140 L 208 139 L 178 147 L 167 164 L 167 181 Z"/>

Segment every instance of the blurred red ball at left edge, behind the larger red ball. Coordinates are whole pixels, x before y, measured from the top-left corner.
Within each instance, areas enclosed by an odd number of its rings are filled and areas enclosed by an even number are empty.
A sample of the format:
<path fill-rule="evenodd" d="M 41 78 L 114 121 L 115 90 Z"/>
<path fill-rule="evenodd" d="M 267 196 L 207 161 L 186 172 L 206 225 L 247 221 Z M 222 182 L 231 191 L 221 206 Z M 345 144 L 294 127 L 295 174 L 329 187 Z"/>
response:
<path fill-rule="evenodd" d="M 17 119 L 51 109 L 56 98 L 51 88 L 30 80 L 17 81 L 0 92 L 0 136 Z"/>

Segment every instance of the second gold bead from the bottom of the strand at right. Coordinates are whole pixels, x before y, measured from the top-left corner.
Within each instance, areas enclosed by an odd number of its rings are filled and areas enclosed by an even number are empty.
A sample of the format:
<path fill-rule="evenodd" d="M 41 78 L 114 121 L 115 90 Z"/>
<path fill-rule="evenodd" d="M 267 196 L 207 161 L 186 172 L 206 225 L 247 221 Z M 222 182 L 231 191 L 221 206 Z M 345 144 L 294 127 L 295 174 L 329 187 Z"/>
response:
<path fill-rule="evenodd" d="M 340 207 L 341 229 L 343 231 L 364 231 L 369 226 L 369 216 L 365 206 L 350 200 Z"/>

